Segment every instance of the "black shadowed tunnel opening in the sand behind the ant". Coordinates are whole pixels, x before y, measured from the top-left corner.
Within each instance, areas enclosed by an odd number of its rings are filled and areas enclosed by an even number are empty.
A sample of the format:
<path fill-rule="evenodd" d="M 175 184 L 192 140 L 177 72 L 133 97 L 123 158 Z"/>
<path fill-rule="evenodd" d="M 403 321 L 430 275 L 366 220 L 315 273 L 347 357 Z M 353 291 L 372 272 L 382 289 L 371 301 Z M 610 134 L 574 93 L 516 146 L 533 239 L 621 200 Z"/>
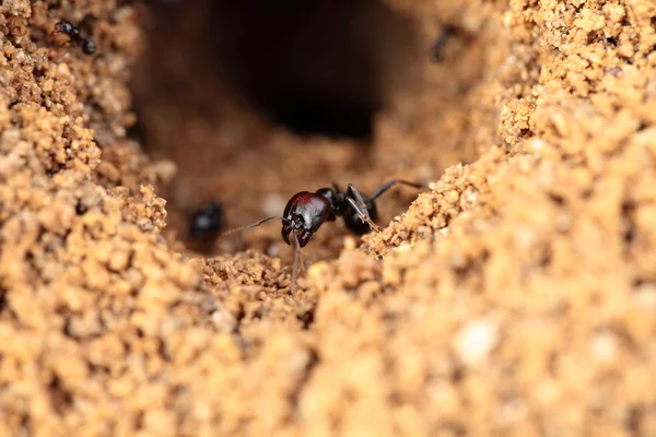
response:
<path fill-rule="evenodd" d="M 378 0 L 219 0 L 212 51 L 254 108 L 300 134 L 371 138 L 413 46 Z"/>

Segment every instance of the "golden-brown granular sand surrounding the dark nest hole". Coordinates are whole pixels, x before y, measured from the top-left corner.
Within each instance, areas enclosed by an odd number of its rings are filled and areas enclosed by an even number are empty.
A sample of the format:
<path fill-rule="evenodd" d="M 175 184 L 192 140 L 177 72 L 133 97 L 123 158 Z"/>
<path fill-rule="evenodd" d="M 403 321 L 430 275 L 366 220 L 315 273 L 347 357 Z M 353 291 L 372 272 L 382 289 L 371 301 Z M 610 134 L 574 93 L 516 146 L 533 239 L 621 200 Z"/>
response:
<path fill-rule="evenodd" d="M 136 7 L 51 9 L 93 17 L 85 57 L 3 2 L 0 435 L 656 435 L 656 4 L 391 3 L 426 48 L 462 35 L 367 169 L 273 131 L 259 185 L 236 165 L 216 186 L 254 189 L 247 222 L 336 175 L 435 180 L 362 248 L 317 233 L 292 296 L 276 226 L 209 260 L 162 236 L 173 166 L 126 137 Z M 276 179 L 297 147 L 341 157 Z"/>

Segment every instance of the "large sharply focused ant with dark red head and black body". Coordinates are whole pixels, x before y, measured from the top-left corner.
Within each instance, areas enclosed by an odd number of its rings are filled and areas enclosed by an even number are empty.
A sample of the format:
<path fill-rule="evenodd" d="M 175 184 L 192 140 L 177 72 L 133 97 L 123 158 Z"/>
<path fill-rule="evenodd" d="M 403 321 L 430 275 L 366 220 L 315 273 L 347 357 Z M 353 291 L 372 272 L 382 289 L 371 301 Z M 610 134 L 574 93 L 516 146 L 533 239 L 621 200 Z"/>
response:
<path fill-rule="evenodd" d="M 282 220 L 282 239 L 291 246 L 290 234 L 293 233 L 296 244 L 291 290 L 292 294 L 294 294 L 296 292 L 296 275 L 301 260 L 301 249 L 307 245 L 314 233 L 324 223 L 333 222 L 338 216 L 343 218 L 347 227 L 355 235 L 364 235 L 372 229 L 375 232 L 383 231 L 375 223 L 378 212 L 374 201 L 396 184 L 424 188 L 421 184 L 394 179 L 384 184 L 372 196 L 360 193 L 352 184 L 349 184 L 345 192 L 342 192 L 335 184 L 332 188 L 320 188 L 316 192 L 301 191 L 290 199 L 282 215 L 273 215 L 251 225 L 227 231 L 222 236 L 259 226 L 270 220 Z"/>

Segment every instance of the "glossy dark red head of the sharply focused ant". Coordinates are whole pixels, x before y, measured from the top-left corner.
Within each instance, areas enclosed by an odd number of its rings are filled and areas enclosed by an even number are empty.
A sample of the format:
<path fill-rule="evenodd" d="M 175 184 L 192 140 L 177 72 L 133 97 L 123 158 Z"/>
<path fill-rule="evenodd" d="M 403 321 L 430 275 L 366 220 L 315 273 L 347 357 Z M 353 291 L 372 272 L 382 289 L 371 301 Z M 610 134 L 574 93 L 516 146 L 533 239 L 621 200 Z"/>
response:
<path fill-rule="evenodd" d="M 330 202 L 326 197 L 308 191 L 294 194 L 282 214 L 282 239 L 291 245 L 290 233 L 294 232 L 298 246 L 305 247 L 330 214 Z"/>

